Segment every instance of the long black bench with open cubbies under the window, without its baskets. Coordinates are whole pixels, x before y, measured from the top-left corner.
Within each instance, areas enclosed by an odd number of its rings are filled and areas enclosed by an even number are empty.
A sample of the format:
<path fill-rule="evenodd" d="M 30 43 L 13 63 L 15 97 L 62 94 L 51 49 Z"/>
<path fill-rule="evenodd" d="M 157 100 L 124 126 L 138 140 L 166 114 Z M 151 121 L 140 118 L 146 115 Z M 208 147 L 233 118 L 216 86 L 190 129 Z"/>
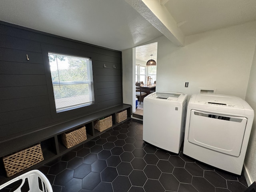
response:
<path fill-rule="evenodd" d="M 92 114 L 86 115 L 84 117 L 76 118 L 68 122 L 49 126 L 47 128 L 34 131 L 30 134 L 21 135 L 11 140 L 1 141 L 0 142 L 1 148 L 4 149 L 4 150 L 1 150 L 0 152 L 1 160 L 4 156 L 8 156 L 8 154 L 14 153 L 22 148 L 26 148 L 27 146 L 40 143 L 42 147 L 44 160 L 18 174 L 23 174 L 28 170 L 36 169 L 36 167 L 39 167 L 42 164 L 50 162 L 51 160 L 54 160 L 55 158 L 65 154 L 66 152 L 72 150 L 73 148 L 76 148 L 77 146 L 90 141 L 92 138 L 99 136 L 103 132 L 115 126 L 118 126 L 123 121 L 120 123 L 116 122 L 116 114 L 122 110 L 127 110 L 126 120 L 130 119 L 131 106 L 127 104 L 122 104 L 122 105 L 114 106 L 105 110 L 94 112 Z M 112 126 L 102 132 L 94 129 L 94 121 L 104 118 L 106 116 L 112 116 Z M 74 128 L 78 128 L 80 126 L 86 127 L 87 139 L 75 146 L 66 148 L 64 144 L 62 144 L 61 134 L 69 130 L 72 130 Z M 0 163 L 0 166 L 2 166 L 2 163 Z M 18 174 L 12 177 L 16 177 Z M 3 178 L 2 181 L 0 181 L 0 184 L 6 182 L 9 179 L 12 179 L 12 177 L 7 178 L 6 173 L 4 172 L 4 169 L 0 167 L 0 178 Z"/>

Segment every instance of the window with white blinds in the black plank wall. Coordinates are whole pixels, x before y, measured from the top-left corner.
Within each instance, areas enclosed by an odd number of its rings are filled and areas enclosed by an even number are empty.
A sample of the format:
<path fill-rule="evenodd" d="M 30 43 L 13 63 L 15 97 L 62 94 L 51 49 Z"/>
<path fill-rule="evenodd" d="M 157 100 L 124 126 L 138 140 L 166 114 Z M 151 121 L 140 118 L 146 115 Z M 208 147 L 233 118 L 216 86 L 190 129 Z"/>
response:
<path fill-rule="evenodd" d="M 48 52 L 56 112 L 94 103 L 92 60 Z"/>

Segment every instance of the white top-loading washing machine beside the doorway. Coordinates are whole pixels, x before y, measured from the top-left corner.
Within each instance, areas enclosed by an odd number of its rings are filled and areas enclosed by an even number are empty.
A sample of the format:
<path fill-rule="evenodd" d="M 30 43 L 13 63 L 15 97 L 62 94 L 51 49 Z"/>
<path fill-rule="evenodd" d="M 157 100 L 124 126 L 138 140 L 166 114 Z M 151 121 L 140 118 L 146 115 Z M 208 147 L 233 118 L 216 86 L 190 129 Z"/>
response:
<path fill-rule="evenodd" d="M 143 140 L 179 153 L 183 141 L 188 95 L 154 92 L 143 101 Z"/>

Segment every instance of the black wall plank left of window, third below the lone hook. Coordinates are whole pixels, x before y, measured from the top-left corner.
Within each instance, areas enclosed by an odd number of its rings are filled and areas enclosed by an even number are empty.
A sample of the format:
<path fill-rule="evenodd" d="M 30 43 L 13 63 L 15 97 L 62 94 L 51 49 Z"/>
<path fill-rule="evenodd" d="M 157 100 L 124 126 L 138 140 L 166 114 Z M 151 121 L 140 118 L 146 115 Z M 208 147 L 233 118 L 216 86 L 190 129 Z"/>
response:
<path fill-rule="evenodd" d="M 0 87 L 0 99 L 14 99 L 14 98 L 24 98 L 33 97 L 40 95 L 47 95 L 46 85 L 41 86 L 20 86 L 20 87 Z"/>

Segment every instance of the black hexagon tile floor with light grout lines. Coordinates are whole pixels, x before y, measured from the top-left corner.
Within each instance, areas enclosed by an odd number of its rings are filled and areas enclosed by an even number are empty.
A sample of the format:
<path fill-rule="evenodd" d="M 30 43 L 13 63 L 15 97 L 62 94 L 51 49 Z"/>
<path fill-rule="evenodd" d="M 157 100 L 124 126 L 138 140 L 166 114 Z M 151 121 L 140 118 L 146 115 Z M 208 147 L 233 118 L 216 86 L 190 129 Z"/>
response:
<path fill-rule="evenodd" d="M 130 119 L 39 168 L 54 192 L 243 192 L 244 176 L 158 149 Z"/>

